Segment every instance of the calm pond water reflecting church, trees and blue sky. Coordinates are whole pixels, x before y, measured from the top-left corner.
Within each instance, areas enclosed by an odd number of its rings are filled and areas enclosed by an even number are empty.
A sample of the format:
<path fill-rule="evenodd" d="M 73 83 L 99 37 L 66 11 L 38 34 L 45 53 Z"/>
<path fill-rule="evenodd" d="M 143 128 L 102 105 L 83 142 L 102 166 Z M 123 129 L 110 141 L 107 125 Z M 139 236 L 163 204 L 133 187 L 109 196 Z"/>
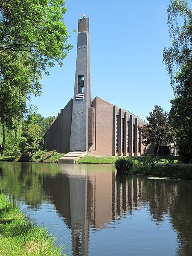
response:
<path fill-rule="evenodd" d="M 192 255 L 192 181 L 112 165 L 0 162 L 0 186 L 69 255 Z"/>

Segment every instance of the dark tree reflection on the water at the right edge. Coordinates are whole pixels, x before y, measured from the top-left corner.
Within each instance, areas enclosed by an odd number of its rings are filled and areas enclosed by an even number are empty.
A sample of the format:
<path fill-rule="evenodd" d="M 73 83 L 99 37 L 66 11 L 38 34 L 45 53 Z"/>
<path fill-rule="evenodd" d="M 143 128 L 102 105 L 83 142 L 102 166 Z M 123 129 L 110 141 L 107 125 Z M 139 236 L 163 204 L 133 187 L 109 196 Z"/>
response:
<path fill-rule="evenodd" d="M 169 215 L 177 233 L 177 255 L 192 255 L 192 181 L 144 179 L 143 200 L 156 223 Z"/>

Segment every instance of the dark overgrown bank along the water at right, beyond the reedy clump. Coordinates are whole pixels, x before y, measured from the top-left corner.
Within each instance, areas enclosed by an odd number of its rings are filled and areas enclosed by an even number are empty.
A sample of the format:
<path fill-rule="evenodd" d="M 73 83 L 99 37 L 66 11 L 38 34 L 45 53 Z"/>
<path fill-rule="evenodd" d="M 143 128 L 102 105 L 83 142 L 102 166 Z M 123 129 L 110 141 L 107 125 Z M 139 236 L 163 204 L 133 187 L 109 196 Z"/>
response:
<path fill-rule="evenodd" d="M 135 165 L 130 172 L 131 174 L 151 177 L 169 177 L 192 180 L 192 165 L 175 163 L 156 164 L 153 167 Z"/>

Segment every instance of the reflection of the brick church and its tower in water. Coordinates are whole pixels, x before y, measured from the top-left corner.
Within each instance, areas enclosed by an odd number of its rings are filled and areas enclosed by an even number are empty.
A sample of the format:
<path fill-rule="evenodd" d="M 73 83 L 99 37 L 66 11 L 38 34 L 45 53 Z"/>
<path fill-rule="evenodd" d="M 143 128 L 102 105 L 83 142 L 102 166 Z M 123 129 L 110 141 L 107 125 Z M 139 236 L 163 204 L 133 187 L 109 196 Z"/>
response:
<path fill-rule="evenodd" d="M 62 175 L 44 180 L 44 190 L 71 229 L 73 255 L 88 255 L 90 228 L 105 228 L 106 224 L 137 209 L 143 180 L 116 176 L 111 165 L 101 171 L 96 166 L 65 165 Z M 68 171 L 67 171 L 68 170 Z M 93 172 L 92 172 L 93 171 Z"/>

